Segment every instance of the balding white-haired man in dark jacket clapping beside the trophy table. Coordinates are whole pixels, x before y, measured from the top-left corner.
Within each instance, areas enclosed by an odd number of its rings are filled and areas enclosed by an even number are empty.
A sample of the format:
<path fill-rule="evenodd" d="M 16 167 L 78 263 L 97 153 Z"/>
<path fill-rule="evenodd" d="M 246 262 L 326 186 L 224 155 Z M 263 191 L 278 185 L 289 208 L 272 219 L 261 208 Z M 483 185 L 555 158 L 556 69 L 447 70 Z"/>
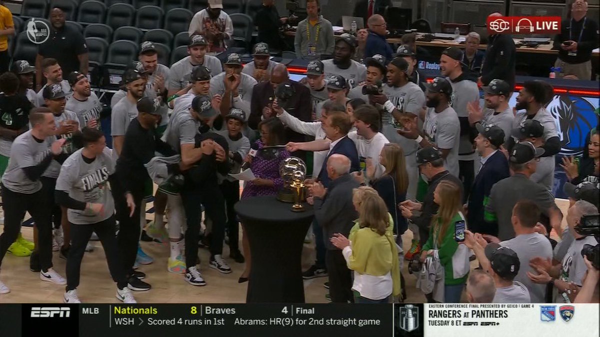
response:
<path fill-rule="evenodd" d="M 327 161 L 327 175 L 331 179 L 329 188 L 321 183 L 310 186 L 313 196 L 314 217 L 323 228 L 323 238 L 327 252 L 325 264 L 329 273 L 329 295 L 331 302 L 354 302 L 350 269 L 341 250 L 330 241 L 334 234 L 348 237 L 358 213 L 352 204 L 352 190 L 359 183 L 350 175 L 350 159 L 341 154 L 333 154 Z"/>

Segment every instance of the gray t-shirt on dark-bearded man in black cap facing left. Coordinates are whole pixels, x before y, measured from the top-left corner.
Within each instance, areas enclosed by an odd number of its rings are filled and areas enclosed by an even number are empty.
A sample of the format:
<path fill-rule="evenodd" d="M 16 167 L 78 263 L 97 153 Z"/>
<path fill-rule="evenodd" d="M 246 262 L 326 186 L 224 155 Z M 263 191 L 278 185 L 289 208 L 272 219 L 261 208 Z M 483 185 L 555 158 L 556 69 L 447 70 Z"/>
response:
<path fill-rule="evenodd" d="M 450 149 L 444 160 L 444 167 L 452 175 L 458 177 L 458 143 L 460 142 L 460 122 L 452 107 L 440 113 L 434 108 L 427 109 L 423 131 L 430 143 L 438 149 Z"/>

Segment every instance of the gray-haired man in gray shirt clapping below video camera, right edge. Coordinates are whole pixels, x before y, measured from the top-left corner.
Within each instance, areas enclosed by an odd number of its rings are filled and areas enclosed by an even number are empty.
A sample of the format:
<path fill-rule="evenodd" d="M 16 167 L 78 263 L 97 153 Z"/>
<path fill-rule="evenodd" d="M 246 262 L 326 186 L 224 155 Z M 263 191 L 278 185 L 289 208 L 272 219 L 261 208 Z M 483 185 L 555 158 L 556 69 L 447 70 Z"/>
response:
<path fill-rule="evenodd" d="M 577 296 L 577 292 L 581 288 L 581 285 L 583 285 L 583 276 L 586 273 L 587 266 L 581 252 L 585 249 L 586 245 L 596 246 L 598 243 L 593 236 L 583 236 L 578 233 L 576 227 L 580 227 L 583 216 L 597 214 L 598 208 L 593 204 L 582 200 L 577 201 L 569 208 L 566 215 L 569 231 L 571 231 L 575 240 L 569 246 L 569 250 L 562 259 L 562 264 L 553 266 L 550 258 L 544 259 L 541 257 L 532 258 L 530 261 L 530 265 L 538 273 L 527 273 L 529 278 L 536 283 L 550 283 L 554 285 L 559 296 L 562 296 L 563 300 L 567 303 Z M 560 297 L 557 300 L 560 300 Z"/>

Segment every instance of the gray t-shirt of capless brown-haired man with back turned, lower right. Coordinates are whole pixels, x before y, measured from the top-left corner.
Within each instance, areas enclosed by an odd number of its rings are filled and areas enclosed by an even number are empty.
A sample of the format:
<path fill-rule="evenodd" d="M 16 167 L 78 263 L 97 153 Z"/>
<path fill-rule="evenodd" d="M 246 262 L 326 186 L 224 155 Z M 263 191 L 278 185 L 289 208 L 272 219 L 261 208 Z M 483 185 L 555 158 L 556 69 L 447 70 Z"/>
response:
<path fill-rule="evenodd" d="M 529 261 L 534 257 L 541 257 L 544 260 L 552 258 L 552 245 L 547 237 L 539 233 L 520 234 L 510 240 L 500 242 L 501 246 L 511 248 L 517 253 L 521 267 L 514 281 L 521 282 L 529 290 L 531 297 L 530 303 L 544 303 L 546 294 L 546 285 L 537 284 L 527 276 L 527 272 L 535 273 L 529 266 Z M 510 302 L 506 302 L 510 303 Z"/>

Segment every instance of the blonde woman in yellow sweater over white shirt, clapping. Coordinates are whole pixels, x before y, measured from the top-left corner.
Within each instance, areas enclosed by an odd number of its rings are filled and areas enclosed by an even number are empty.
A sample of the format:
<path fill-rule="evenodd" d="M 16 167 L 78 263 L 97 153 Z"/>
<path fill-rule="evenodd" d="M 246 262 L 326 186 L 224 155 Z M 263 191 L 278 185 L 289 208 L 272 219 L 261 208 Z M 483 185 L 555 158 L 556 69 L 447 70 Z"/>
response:
<path fill-rule="evenodd" d="M 355 303 L 388 303 L 391 295 L 400 294 L 392 216 L 377 191 L 367 186 L 353 190 L 352 203 L 359 217 L 349 239 L 337 233 L 331 243 L 342 249 L 349 269 L 354 270 Z"/>

